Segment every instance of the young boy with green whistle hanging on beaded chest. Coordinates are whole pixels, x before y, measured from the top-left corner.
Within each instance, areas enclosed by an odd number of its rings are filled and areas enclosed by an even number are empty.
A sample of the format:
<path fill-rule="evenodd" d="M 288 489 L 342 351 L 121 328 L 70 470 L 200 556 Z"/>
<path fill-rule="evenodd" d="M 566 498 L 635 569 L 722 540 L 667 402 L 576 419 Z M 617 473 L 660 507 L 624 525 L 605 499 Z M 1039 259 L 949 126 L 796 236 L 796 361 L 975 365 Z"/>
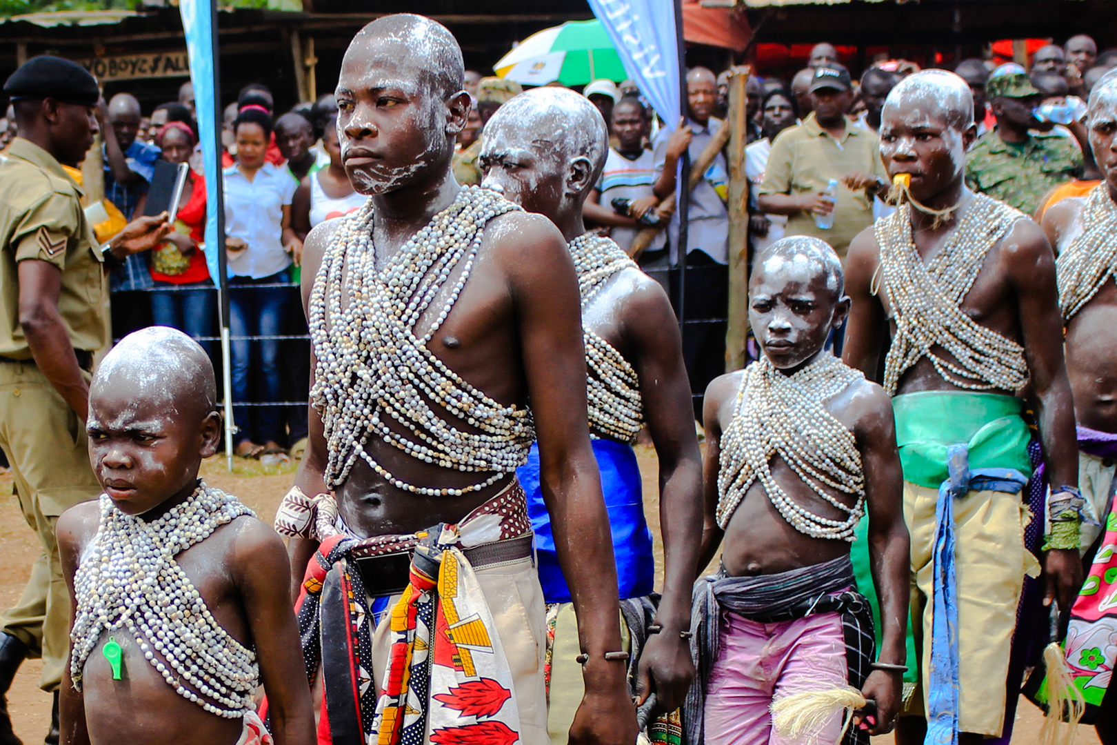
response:
<path fill-rule="evenodd" d="M 130 334 L 94 375 L 86 429 L 104 494 L 58 520 L 73 603 L 61 742 L 313 743 L 283 542 L 198 478 L 221 432 L 206 352 L 163 326 Z"/>

